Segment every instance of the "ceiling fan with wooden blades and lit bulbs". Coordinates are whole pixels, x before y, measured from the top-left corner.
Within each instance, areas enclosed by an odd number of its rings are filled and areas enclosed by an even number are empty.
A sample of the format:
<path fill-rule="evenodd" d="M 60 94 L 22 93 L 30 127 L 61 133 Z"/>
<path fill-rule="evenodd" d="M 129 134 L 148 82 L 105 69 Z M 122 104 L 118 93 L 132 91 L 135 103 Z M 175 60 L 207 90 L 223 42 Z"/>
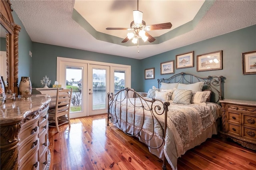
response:
<path fill-rule="evenodd" d="M 138 39 L 142 38 L 144 42 L 154 42 L 156 39 L 148 34 L 146 31 L 151 30 L 163 30 L 172 28 L 170 22 L 162 24 L 153 24 L 146 26 L 146 22 L 142 20 L 143 12 L 139 11 L 139 0 L 137 0 L 137 10 L 133 11 L 133 21 L 130 24 L 130 28 L 106 28 L 106 30 L 134 30 L 134 32 L 129 32 L 127 37 L 122 41 L 122 43 L 127 42 L 132 39 L 133 43 L 138 43 Z"/>

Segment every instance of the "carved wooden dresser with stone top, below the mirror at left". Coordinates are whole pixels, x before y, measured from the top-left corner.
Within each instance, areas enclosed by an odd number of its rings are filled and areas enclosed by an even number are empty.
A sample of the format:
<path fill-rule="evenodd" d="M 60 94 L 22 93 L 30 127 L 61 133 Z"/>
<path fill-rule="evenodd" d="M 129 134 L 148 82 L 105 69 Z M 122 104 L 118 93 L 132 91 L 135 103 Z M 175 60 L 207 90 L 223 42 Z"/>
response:
<path fill-rule="evenodd" d="M 46 170 L 48 149 L 48 95 L 17 98 L 0 106 L 1 168 Z"/>

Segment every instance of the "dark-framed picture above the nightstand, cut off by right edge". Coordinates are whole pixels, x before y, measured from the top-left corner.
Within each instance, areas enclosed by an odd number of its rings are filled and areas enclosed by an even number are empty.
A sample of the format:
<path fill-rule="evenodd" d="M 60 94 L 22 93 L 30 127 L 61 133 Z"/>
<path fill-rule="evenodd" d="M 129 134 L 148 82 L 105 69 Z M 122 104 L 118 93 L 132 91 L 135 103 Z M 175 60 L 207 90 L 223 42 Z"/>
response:
<path fill-rule="evenodd" d="M 242 53 L 243 74 L 256 74 L 256 51 Z"/>

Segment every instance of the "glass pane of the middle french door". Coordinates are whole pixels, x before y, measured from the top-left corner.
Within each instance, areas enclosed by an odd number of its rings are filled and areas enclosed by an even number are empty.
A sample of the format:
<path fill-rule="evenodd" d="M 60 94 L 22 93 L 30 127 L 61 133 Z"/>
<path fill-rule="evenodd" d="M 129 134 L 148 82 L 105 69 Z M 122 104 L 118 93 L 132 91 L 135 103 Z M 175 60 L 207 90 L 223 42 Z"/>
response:
<path fill-rule="evenodd" d="M 92 109 L 106 109 L 105 69 L 92 69 Z"/>

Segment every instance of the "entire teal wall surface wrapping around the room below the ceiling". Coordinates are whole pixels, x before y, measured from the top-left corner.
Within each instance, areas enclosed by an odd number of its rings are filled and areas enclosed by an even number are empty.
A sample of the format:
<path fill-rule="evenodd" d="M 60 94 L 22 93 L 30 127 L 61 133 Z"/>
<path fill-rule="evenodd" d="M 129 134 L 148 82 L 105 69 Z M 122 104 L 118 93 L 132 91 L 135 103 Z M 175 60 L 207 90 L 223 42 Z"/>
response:
<path fill-rule="evenodd" d="M 223 86 L 224 99 L 256 101 L 256 74 L 242 74 L 242 53 L 256 50 L 256 25 L 138 60 L 32 42 L 16 13 L 12 12 L 12 15 L 14 22 L 22 28 L 19 34 L 19 77 L 30 76 L 32 87 L 41 87 L 40 80 L 45 75 L 52 81 L 56 80 L 56 57 L 58 56 L 131 65 L 132 88 L 136 91 L 147 92 L 148 89 L 152 88 L 152 85 L 157 86 L 157 79 L 168 78 L 173 75 L 160 75 L 160 63 L 175 61 L 176 55 L 194 51 L 194 67 L 174 69 L 175 74 L 187 72 L 203 77 L 223 75 L 225 77 Z M 222 70 L 196 71 L 197 55 L 220 50 L 223 51 Z M 32 51 L 32 57 L 29 56 L 29 51 Z M 144 69 L 152 67 L 155 68 L 155 79 L 145 80 Z"/>

